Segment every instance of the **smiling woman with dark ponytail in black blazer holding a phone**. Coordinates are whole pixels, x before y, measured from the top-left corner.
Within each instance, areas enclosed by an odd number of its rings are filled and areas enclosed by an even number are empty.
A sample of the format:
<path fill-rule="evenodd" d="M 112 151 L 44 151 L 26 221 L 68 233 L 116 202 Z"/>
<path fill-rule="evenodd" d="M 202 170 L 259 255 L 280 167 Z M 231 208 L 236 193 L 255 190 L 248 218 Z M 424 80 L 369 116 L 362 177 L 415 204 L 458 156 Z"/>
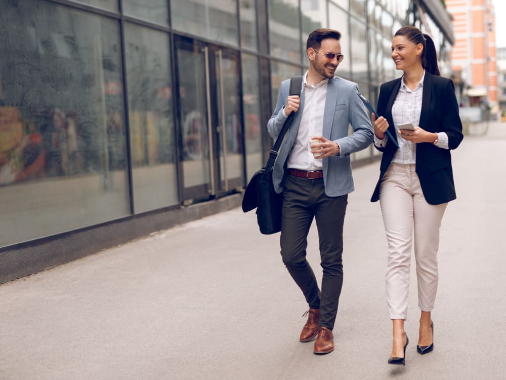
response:
<path fill-rule="evenodd" d="M 453 82 L 441 78 L 431 37 L 414 26 L 400 28 L 392 41 L 392 59 L 402 78 L 379 91 L 374 146 L 383 152 L 371 202 L 379 200 L 388 241 L 387 302 L 393 322 L 390 364 L 405 363 L 409 265 L 414 242 L 419 354 L 434 348 L 434 309 L 438 284 L 439 227 L 446 205 L 456 198 L 450 149 L 462 141 L 462 124 Z M 399 129 L 411 123 L 413 130 Z M 389 141 L 389 130 L 399 148 Z"/>

